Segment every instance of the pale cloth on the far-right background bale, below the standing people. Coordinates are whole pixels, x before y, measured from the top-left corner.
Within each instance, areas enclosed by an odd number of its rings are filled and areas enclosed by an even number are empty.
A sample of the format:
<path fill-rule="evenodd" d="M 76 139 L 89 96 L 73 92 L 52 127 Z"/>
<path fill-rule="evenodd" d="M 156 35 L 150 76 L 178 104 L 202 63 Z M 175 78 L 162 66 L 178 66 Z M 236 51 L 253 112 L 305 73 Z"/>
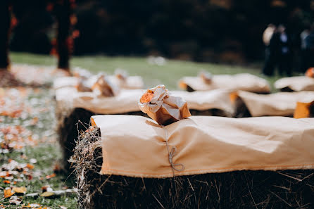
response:
<path fill-rule="evenodd" d="M 314 78 L 306 76 L 284 77 L 275 82 L 276 89 L 289 87 L 294 91 L 314 91 Z"/>

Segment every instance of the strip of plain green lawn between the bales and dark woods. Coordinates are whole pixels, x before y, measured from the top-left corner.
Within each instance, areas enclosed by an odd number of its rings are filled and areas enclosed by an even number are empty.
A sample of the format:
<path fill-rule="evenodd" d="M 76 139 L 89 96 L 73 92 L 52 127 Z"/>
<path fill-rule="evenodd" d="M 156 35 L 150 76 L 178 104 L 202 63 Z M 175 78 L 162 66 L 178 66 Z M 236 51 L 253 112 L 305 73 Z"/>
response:
<path fill-rule="evenodd" d="M 39 56 L 30 53 L 11 53 L 13 63 L 28 63 L 33 65 L 56 65 L 56 58 Z M 191 61 L 167 60 L 165 65 L 151 65 L 147 58 L 139 57 L 108 57 L 108 56 L 75 56 L 71 59 L 71 67 L 80 67 L 91 72 L 112 73 L 115 68 L 127 70 L 130 75 L 141 75 L 147 88 L 165 84 L 168 89 L 177 89 L 177 81 L 183 76 L 196 76 L 200 70 L 213 74 L 237 74 L 249 72 L 260 75 L 260 66 L 246 67 L 239 65 L 221 65 L 212 63 L 195 63 Z M 263 76 L 261 76 L 263 77 Z M 279 77 L 265 77 L 270 84 Z"/>

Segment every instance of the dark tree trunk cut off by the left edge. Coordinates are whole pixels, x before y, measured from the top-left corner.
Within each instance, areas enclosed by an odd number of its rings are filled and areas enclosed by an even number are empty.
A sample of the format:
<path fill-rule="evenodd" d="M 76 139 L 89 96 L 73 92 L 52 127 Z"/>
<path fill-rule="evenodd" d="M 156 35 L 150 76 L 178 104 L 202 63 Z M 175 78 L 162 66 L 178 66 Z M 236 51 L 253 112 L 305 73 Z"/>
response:
<path fill-rule="evenodd" d="M 0 0 L 0 70 L 8 68 L 8 42 L 11 26 L 9 0 Z"/>

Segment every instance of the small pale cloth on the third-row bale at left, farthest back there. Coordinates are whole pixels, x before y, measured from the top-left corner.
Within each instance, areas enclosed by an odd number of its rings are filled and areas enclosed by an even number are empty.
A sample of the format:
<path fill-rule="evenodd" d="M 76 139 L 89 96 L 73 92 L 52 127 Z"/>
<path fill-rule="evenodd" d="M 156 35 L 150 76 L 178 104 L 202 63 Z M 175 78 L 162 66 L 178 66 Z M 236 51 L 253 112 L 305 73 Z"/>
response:
<path fill-rule="evenodd" d="M 140 76 L 130 76 L 127 77 L 125 82 L 119 80 L 114 75 L 109 75 L 108 79 L 114 84 L 118 85 L 122 89 L 142 89 L 144 87 L 144 82 Z M 59 77 L 54 80 L 54 89 L 59 89 L 62 87 L 75 87 L 78 83 L 77 77 Z"/>

